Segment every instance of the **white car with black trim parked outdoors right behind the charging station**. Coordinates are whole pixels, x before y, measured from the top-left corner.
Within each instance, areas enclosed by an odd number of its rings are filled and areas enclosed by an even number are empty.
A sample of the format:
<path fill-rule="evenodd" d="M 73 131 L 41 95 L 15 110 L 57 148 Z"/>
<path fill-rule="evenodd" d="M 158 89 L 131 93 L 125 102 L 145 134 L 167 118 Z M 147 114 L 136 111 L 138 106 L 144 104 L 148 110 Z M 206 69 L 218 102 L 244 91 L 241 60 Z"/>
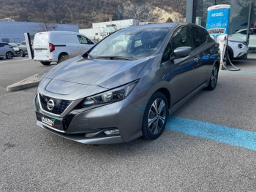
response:
<path fill-rule="evenodd" d="M 247 58 L 248 43 L 237 37 L 228 37 L 228 55 L 230 60 Z"/>

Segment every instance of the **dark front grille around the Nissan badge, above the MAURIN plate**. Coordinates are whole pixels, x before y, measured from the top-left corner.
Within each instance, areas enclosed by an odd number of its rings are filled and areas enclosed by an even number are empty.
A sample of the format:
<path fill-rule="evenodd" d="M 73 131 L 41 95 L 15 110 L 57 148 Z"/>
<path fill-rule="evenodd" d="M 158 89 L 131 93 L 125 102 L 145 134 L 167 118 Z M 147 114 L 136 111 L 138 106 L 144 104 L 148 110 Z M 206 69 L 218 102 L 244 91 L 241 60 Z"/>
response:
<path fill-rule="evenodd" d="M 72 102 L 72 101 L 68 101 L 68 100 L 56 99 L 53 97 L 44 96 L 42 94 L 39 94 L 39 99 L 40 99 L 42 110 L 54 113 L 56 115 L 61 115 L 61 113 L 64 112 L 64 110 L 66 110 L 67 107 L 69 106 L 69 104 L 71 104 L 71 102 Z M 48 103 L 48 101 L 50 101 L 50 99 L 53 100 L 53 102 L 54 102 L 53 110 L 49 110 L 47 107 L 47 103 Z"/>

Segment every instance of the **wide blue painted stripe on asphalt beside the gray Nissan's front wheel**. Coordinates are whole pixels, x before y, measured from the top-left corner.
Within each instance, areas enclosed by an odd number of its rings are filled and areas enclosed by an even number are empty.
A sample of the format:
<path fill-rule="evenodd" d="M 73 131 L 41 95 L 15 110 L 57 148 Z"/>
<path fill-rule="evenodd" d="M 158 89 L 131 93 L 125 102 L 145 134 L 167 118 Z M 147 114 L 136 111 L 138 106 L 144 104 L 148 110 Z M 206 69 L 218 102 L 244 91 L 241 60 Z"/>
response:
<path fill-rule="evenodd" d="M 195 137 L 256 150 L 256 132 L 220 126 L 199 120 L 169 116 L 165 128 Z"/>

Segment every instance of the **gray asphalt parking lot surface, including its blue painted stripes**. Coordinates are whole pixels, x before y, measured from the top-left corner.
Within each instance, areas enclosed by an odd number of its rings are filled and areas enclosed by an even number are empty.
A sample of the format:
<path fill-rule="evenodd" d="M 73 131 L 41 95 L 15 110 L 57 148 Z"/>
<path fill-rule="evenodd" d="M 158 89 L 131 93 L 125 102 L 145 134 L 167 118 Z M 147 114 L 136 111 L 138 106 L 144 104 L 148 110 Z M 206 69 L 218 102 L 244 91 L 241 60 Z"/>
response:
<path fill-rule="evenodd" d="M 217 88 L 173 113 L 159 139 L 95 146 L 37 127 L 37 88 L 6 92 L 47 68 L 18 59 L 0 61 L 0 191 L 256 191 L 255 61 L 219 72 Z"/>

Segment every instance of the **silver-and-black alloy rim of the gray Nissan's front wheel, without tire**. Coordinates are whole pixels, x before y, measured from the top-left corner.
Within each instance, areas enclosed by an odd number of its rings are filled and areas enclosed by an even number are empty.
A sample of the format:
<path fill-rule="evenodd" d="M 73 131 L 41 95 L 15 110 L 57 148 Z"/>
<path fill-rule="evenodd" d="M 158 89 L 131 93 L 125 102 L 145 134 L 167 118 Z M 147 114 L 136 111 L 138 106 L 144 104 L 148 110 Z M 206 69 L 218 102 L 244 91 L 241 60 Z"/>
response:
<path fill-rule="evenodd" d="M 165 101 L 156 99 L 150 107 L 148 114 L 148 128 L 151 134 L 158 134 L 162 130 L 166 119 Z"/>

